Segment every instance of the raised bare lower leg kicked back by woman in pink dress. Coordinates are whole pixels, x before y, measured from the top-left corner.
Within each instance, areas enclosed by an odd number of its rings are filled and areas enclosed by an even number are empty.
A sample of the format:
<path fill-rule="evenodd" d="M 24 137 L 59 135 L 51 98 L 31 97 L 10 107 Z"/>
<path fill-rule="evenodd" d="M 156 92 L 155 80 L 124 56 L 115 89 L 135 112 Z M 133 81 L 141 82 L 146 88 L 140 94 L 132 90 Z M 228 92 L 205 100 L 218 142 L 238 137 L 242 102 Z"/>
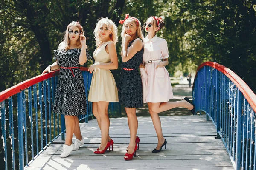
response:
<path fill-rule="evenodd" d="M 177 108 L 177 107 L 185 107 L 189 110 L 193 109 L 193 105 L 191 105 L 189 102 L 186 100 L 181 100 L 177 102 L 163 102 L 163 103 L 155 103 L 155 105 L 152 105 L 152 111 L 155 113 L 160 113 L 163 111 L 168 111 L 172 108 Z"/>

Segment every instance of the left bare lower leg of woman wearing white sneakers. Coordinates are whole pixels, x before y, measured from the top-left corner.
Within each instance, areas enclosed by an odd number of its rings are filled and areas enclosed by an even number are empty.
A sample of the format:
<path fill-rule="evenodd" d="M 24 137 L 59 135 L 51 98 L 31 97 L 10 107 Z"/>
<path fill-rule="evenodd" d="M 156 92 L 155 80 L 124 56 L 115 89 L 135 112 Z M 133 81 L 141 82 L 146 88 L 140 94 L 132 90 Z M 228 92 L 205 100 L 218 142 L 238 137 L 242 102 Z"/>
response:
<path fill-rule="evenodd" d="M 65 125 L 66 125 L 66 140 L 65 144 L 70 146 L 72 144 L 72 137 L 75 130 L 75 119 L 74 116 L 65 116 Z"/>

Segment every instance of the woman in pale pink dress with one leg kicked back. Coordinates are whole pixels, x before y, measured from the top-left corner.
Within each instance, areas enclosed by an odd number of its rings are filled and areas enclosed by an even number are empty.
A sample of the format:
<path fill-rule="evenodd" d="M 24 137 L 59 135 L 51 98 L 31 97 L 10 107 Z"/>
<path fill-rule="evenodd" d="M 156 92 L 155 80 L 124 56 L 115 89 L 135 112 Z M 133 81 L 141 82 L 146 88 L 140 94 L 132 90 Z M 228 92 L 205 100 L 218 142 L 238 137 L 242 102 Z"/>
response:
<path fill-rule="evenodd" d="M 185 107 L 195 113 L 195 105 L 184 98 L 181 101 L 169 102 L 173 98 L 172 85 L 169 73 L 165 66 L 168 65 L 168 46 L 167 41 L 159 38 L 156 32 L 165 23 L 159 17 L 148 17 L 145 31 L 148 33 L 144 38 L 143 64 L 140 65 L 140 72 L 143 84 L 143 102 L 148 103 L 149 113 L 157 133 L 158 144 L 152 153 L 157 153 L 166 148 L 166 139 L 163 137 L 161 120 L 158 113 L 176 107 Z"/>

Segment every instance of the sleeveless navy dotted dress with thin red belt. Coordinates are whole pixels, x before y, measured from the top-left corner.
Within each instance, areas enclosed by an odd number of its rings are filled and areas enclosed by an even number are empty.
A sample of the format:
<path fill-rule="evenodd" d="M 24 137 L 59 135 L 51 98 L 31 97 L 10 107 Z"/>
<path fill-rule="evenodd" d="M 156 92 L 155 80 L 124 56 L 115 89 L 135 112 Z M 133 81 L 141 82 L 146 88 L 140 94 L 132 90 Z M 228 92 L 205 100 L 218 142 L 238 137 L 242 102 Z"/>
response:
<path fill-rule="evenodd" d="M 136 40 L 136 39 L 134 39 Z M 128 48 L 134 42 L 128 44 Z M 138 68 L 142 63 L 144 47 L 138 51 L 134 57 L 121 65 L 121 84 L 119 101 L 126 108 L 143 107 L 142 81 Z M 124 70 L 123 68 L 133 68 L 134 70 Z"/>

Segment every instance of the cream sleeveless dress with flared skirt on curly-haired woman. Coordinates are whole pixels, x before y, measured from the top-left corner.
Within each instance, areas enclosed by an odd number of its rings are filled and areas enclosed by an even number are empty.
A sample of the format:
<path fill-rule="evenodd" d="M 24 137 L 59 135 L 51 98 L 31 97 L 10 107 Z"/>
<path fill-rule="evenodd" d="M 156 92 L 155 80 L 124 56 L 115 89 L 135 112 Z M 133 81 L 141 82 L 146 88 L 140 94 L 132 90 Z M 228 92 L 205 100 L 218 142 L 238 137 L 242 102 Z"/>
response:
<path fill-rule="evenodd" d="M 111 41 L 108 41 L 111 42 Z M 111 62 L 109 54 L 105 47 L 108 42 L 104 42 L 99 48 L 93 52 L 95 63 L 109 63 Z M 108 69 L 96 68 L 93 71 L 92 82 L 88 95 L 90 102 L 118 102 L 118 92 L 116 88 L 116 81 Z"/>

